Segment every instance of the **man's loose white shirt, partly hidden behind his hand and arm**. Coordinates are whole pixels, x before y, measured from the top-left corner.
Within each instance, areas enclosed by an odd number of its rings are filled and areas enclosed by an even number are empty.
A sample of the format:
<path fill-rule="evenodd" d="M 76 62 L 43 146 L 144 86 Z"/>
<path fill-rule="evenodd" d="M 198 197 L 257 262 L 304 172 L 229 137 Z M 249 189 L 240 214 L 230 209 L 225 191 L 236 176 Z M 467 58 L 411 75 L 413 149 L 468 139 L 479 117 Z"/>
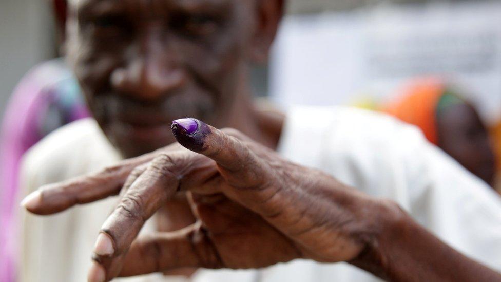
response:
<path fill-rule="evenodd" d="M 428 143 L 418 129 L 374 112 L 295 108 L 278 152 L 378 198 L 393 199 L 458 251 L 501 271 L 501 200 Z M 27 192 L 119 160 L 93 120 L 70 124 L 26 156 Z M 94 240 L 112 199 L 60 215 L 24 216 L 22 281 L 85 281 Z M 49 261 L 49 263 L 47 263 Z M 161 276 L 136 278 L 162 280 Z M 296 260 L 264 270 L 200 270 L 194 281 L 377 281 L 348 264 Z"/>

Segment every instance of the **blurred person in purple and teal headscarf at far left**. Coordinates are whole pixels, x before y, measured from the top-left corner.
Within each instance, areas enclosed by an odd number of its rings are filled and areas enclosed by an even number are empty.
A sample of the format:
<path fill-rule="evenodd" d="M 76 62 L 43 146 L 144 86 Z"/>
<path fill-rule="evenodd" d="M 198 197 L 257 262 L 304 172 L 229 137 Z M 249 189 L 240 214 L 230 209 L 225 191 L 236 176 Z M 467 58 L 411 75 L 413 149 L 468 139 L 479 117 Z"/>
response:
<path fill-rule="evenodd" d="M 66 1 L 52 1 L 63 42 Z M 53 130 L 89 117 L 83 95 L 63 59 L 33 67 L 16 86 L 7 105 L 0 134 L 0 281 L 14 280 L 19 205 L 18 178 L 23 154 Z"/>

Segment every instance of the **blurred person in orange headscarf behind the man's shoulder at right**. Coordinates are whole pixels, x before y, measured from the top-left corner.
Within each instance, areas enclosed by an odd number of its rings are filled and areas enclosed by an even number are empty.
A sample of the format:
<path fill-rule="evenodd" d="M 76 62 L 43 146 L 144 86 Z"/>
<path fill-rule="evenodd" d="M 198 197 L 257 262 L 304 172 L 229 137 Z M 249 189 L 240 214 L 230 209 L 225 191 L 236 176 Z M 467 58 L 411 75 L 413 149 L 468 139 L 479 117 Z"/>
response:
<path fill-rule="evenodd" d="M 382 110 L 416 125 L 434 145 L 494 185 L 495 155 L 487 126 L 475 107 L 440 79 L 418 79 Z"/>

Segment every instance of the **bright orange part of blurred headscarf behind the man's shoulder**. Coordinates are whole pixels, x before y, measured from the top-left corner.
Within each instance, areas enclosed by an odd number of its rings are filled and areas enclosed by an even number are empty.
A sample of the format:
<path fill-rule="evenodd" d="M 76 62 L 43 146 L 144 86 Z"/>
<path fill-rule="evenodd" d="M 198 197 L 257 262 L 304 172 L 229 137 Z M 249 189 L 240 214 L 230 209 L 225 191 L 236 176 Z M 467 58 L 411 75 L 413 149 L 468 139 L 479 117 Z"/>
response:
<path fill-rule="evenodd" d="M 404 88 L 403 96 L 382 109 L 383 112 L 416 125 L 428 141 L 437 145 L 436 110 L 445 84 L 439 79 L 420 79 Z"/>

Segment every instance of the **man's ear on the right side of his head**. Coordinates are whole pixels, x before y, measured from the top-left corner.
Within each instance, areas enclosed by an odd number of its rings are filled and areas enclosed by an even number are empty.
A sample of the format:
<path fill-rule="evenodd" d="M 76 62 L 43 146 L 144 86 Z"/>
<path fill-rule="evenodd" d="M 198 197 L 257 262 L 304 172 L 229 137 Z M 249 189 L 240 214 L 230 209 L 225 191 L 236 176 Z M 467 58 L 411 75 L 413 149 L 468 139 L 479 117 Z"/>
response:
<path fill-rule="evenodd" d="M 285 0 L 256 0 L 256 32 L 252 46 L 252 60 L 264 63 L 275 40 L 284 13 Z"/>

